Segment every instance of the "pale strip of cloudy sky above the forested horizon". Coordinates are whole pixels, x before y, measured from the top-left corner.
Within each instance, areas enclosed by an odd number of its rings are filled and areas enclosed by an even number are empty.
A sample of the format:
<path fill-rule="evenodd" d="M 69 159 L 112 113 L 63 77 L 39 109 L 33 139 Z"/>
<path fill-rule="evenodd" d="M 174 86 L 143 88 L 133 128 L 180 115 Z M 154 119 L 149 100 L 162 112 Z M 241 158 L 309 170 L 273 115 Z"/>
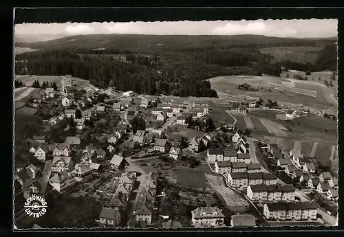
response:
<path fill-rule="evenodd" d="M 15 36 L 72 36 L 79 34 L 236 35 L 322 38 L 337 36 L 336 19 L 256 21 L 156 21 L 128 23 L 23 23 Z"/>

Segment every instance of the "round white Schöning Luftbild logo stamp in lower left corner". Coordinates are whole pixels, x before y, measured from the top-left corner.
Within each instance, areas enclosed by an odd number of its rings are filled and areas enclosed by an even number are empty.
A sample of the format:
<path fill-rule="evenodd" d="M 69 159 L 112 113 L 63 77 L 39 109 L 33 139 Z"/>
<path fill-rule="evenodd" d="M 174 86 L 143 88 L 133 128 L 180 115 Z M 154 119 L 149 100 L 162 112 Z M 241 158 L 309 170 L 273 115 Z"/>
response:
<path fill-rule="evenodd" d="M 36 194 L 32 194 L 26 199 L 24 207 L 26 214 L 34 218 L 39 218 L 47 212 L 47 202 L 42 196 Z"/>

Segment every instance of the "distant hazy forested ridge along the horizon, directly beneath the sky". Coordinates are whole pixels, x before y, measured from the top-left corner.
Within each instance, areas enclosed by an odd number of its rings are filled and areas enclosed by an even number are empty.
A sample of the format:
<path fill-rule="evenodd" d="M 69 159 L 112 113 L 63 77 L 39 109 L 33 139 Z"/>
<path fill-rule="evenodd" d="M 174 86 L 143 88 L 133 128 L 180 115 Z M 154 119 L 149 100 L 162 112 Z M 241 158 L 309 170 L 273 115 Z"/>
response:
<path fill-rule="evenodd" d="M 37 43 L 16 43 L 16 47 L 30 47 L 33 49 L 65 49 L 79 48 L 114 48 L 135 52 L 153 52 L 164 50 L 213 48 L 230 49 L 232 47 L 324 47 L 334 43 L 335 38 L 303 39 L 277 38 L 258 35 L 236 36 L 158 36 L 138 34 L 91 34 L 67 36 L 51 41 Z"/>

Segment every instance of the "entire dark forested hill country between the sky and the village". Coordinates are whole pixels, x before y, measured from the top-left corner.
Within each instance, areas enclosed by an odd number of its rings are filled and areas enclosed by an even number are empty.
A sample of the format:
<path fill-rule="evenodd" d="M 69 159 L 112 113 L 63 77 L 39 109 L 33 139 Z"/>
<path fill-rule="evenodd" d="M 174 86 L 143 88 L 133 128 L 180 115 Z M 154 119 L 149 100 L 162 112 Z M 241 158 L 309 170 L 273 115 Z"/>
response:
<path fill-rule="evenodd" d="M 136 93 L 217 97 L 204 80 L 223 75 L 279 76 L 281 69 L 336 70 L 332 39 L 266 36 L 70 36 L 39 43 L 16 44 L 41 49 L 16 55 L 16 74 L 66 75 L 96 87 Z M 283 60 L 259 47 L 314 47 L 314 62 Z"/>

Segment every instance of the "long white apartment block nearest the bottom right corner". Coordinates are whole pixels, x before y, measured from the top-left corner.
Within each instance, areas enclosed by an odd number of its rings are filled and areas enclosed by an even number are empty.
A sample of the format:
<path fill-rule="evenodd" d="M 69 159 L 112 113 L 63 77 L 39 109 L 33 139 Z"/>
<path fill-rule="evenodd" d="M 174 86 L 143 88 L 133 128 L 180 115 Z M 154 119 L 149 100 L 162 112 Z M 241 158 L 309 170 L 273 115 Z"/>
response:
<path fill-rule="evenodd" d="M 314 202 L 266 203 L 263 213 L 271 221 L 316 220 L 317 208 Z"/>

